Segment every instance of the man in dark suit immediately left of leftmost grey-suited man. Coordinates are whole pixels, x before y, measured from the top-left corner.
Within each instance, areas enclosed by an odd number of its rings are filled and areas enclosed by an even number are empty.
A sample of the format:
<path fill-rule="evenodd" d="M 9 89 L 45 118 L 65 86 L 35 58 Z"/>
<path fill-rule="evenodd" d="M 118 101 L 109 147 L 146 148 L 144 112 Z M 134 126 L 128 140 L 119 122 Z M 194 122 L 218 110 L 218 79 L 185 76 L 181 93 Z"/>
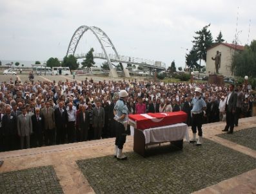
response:
<path fill-rule="evenodd" d="M 17 141 L 17 118 L 11 113 L 11 107 L 6 107 L 5 114 L 2 117 L 3 142 L 4 150 L 16 150 L 18 148 Z"/>

